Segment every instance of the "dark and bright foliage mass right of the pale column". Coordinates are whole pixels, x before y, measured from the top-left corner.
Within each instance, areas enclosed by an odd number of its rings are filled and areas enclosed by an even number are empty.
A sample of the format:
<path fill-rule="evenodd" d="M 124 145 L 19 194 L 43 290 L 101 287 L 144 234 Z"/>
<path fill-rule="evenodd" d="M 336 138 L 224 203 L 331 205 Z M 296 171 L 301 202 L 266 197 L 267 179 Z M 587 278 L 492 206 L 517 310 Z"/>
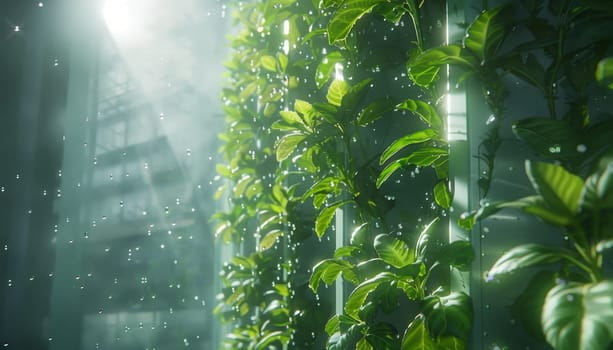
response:
<path fill-rule="evenodd" d="M 534 101 L 545 105 L 548 115 L 519 119 L 512 125 L 515 136 L 534 152 L 526 155 L 533 158 L 526 160 L 526 172 L 537 194 L 497 203 L 486 197 L 501 143 L 497 134 L 502 124 L 497 123 L 482 144 L 489 170 L 488 178 L 482 179 L 485 198 L 460 225 L 472 229 L 475 220 L 504 208 L 519 208 L 557 227 L 565 244 L 516 246 L 494 263 L 486 281 L 541 266 L 515 302 L 528 331 L 542 346 L 548 343 L 555 349 L 609 348 L 613 280 L 603 261 L 612 237 L 613 118 L 603 107 L 610 95 L 608 56 L 613 53 L 613 35 L 605 28 L 613 21 L 613 12 L 606 1 L 524 0 L 480 16 L 490 17 L 492 31 L 489 50 L 480 62 L 464 53 L 469 47 L 466 41 L 461 48 L 447 45 L 427 55 L 443 52 L 442 61 L 477 77 L 484 87 L 487 81 L 496 81 L 495 100 L 489 90 L 485 96 L 498 120 L 502 115 L 496 111 L 504 111 L 511 89 L 509 76 L 540 93 Z M 428 67 L 427 63 L 424 70 Z"/>

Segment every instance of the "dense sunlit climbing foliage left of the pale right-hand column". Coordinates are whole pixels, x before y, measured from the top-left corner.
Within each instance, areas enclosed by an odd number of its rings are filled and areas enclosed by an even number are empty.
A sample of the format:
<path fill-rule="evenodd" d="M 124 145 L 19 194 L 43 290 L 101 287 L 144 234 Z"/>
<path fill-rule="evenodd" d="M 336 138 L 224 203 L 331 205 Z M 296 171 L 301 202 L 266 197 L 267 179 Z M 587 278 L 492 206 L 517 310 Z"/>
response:
<path fill-rule="evenodd" d="M 235 8 L 244 31 L 228 63 L 218 166 L 230 206 L 215 230 L 241 253 L 222 274 L 217 313 L 234 328 L 226 346 L 463 348 L 472 306 L 447 278 L 473 252 L 443 236 L 451 204 L 443 89 L 407 74 L 427 45 L 442 43 L 435 15 L 444 2 Z M 410 192 L 408 204 L 398 200 Z M 355 230 L 331 251 L 335 216 Z M 343 312 L 329 315 L 319 285 L 335 281 L 350 293 Z"/>

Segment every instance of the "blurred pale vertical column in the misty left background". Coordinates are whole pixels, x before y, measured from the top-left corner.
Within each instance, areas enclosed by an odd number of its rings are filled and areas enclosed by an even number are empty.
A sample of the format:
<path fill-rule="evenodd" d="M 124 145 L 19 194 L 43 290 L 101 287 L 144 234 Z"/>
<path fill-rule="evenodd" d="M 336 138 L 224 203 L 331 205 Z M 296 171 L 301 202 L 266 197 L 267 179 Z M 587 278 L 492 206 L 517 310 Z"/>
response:
<path fill-rule="evenodd" d="M 62 1 L 60 12 L 68 14 L 64 40 L 69 47 L 69 81 L 64 126 L 64 153 L 56 259 L 50 306 L 50 349 L 79 349 L 81 345 L 81 257 L 83 232 L 81 214 L 86 186 L 82 184 L 87 164 L 87 117 L 92 115 L 92 86 L 97 52 L 95 23 L 98 15 L 93 1 Z M 86 286 L 84 286 L 86 288 Z"/>

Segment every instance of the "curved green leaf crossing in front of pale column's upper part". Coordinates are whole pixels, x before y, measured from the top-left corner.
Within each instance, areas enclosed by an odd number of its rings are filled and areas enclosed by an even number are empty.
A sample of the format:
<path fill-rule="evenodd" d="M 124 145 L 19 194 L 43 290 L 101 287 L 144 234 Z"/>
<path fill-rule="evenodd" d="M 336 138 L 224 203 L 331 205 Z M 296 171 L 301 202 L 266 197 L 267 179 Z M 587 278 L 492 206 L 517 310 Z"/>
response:
<path fill-rule="evenodd" d="M 451 44 L 426 50 L 409 61 L 407 65 L 409 77 L 415 84 L 428 87 L 437 79 L 441 67 L 446 64 L 456 65 L 468 71 L 477 69 L 471 58 L 462 56 L 460 45 Z"/>

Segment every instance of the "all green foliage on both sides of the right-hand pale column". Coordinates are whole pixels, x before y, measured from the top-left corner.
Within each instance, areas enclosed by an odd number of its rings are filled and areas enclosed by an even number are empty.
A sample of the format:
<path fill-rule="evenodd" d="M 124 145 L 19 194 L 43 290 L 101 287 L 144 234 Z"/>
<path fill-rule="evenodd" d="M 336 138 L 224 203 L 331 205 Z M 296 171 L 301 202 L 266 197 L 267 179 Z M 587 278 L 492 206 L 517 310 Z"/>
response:
<path fill-rule="evenodd" d="M 228 347 L 466 346 L 471 302 L 449 290 L 446 272 L 468 268 L 472 249 L 441 234 L 452 202 L 441 118 L 447 65 L 463 72 L 452 84 L 481 86 L 493 113 L 481 144 L 483 197 L 502 142 L 508 77 L 539 91 L 549 112 L 513 126 L 539 160 L 556 162 L 527 163 L 539 194 L 484 202 L 461 224 L 470 229 L 496 210 L 520 207 L 562 226 L 570 246 L 517 247 L 490 278 L 561 263 L 537 310 L 545 338 L 556 348 L 610 342 L 610 313 L 597 311 L 613 310 L 602 274 L 602 252 L 611 246 L 610 170 L 595 169 L 610 152 L 611 128 L 590 100 L 594 72 L 611 84 L 606 1 L 511 2 L 480 13 L 462 42 L 450 44 L 439 37 L 444 1 L 234 6 L 243 32 L 228 62 L 225 164 L 218 166 L 226 184 L 219 196 L 225 193 L 229 208 L 216 215 L 216 235 L 240 247 L 224 268 L 217 308 L 234 325 Z M 424 184 L 431 188 L 425 199 Z M 355 230 L 332 252 L 335 216 Z M 553 286 L 556 277 L 564 283 Z M 342 313 L 325 314 L 331 297 L 321 282 L 351 291 Z M 564 304 L 569 299 L 577 303 Z M 585 324 L 594 332 L 581 332 Z M 327 339 L 319 338 L 323 330 Z"/>

